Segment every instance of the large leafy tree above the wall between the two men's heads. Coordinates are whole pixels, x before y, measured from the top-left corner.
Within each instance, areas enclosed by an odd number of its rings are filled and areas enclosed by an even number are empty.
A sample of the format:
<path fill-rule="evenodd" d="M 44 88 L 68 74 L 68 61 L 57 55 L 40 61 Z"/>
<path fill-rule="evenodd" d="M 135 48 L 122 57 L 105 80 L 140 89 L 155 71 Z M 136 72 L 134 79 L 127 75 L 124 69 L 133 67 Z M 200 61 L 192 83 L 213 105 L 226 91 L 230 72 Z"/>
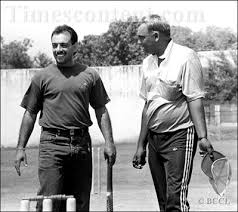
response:
<path fill-rule="evenodd" d="M 144 58 L 136 37 L 140 24 L 138 18 L 130 17 L 112 22 L 100 36 L 85 36 L 76 60 L 93 66 L 140 64 Z"/>

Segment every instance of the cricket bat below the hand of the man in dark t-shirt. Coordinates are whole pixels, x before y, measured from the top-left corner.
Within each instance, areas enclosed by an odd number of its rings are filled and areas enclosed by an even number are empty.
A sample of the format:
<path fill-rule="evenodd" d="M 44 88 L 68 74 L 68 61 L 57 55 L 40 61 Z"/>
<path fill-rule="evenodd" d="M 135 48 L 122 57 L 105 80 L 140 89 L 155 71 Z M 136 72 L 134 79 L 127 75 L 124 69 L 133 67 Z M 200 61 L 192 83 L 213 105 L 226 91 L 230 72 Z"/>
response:
<path fill-rule="evenodd" d="M 113 211 L 112 166 L 107 163 L 107 212 Z"/>

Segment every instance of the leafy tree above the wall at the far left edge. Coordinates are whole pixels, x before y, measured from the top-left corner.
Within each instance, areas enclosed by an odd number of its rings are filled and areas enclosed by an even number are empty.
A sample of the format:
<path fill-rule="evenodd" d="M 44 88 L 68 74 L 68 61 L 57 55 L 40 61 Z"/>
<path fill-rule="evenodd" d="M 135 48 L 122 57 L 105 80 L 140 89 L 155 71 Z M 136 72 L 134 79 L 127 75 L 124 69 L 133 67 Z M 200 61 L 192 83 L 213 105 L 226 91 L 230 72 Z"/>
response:
<path fill-rule="evenodd" d="M 31 68 L 33 61 L 27 54 L 30 47 L 32 41 L 28 38 L 5 44 L 1 37 L 1 68 Z"/>

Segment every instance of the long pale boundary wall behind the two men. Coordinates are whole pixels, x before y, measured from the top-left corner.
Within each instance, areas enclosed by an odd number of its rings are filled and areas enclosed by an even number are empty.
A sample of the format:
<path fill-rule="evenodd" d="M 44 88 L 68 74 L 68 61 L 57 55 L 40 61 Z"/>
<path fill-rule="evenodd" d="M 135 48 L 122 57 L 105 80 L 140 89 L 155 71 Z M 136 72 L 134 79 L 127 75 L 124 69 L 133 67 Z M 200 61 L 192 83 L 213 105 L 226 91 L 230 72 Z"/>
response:
<path fill-rule="evenodd" d="M 108 103 L 115 142 L 131 142 L 138 137 L 141 112 L 144 102 L 138 97 L 141 66 L 95 67 L 101 75 L 110 96 Z M 1 70 L 1 144 L 15 146 L 24 109 L 19 105 L 31 77 L 40 69 Z M 236 125 L 236 105 L 221 105 L 215 110 L 214 105 L 206 106 L 208 124 Z M 103 141 L 97 126 L 94 111 L 90 109 L 93 126 L 90 127 L 92 140 Z M 29 145 L 39 141 L 40 127 L 35 125 Z"/>

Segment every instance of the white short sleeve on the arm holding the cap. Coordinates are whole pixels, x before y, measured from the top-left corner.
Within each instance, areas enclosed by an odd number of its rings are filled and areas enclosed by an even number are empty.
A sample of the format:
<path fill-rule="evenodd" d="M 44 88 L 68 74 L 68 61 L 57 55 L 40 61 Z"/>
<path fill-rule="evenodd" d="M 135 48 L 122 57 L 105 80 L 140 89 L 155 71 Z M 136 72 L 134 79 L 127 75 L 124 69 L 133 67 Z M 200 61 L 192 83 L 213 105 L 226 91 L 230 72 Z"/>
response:
<path fill-rule="evenodd" d="M 183 66 L 182 92 L 189 102 L 205 97 L 202 65 L 195 52 Z"/>

